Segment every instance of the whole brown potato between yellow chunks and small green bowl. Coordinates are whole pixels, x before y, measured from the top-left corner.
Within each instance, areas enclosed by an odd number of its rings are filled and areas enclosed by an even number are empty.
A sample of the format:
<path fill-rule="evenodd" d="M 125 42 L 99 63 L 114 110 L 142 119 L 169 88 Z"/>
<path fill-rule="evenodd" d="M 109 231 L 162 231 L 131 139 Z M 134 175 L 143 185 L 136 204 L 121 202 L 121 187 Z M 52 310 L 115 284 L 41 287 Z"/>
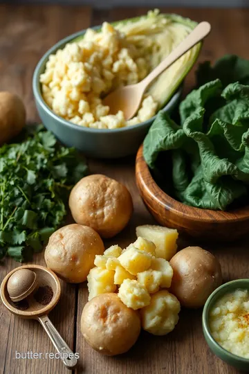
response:
<path fill-rule="evenodd" d="M 221 285 L 221 265 L 200 247 L 182 249 L 169 261 L 173 269 L 171 292 L 186 308 L 200 308 Z"/>

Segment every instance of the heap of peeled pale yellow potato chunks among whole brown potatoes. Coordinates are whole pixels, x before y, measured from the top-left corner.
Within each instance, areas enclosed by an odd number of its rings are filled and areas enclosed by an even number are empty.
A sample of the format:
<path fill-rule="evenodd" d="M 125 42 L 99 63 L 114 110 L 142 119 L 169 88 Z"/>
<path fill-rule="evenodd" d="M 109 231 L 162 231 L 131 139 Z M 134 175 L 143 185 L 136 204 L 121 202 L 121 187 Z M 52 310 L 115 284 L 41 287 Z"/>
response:
<path fill-rule="evenodd" d="M 147 228 L 153 229 L 153 226 Z M 165 238 L 172 234 L 170 229 L 162 230 Z M 176 242 L 172 242 L 172 247 L 176 248 Z M 168 250 L 172 251 L 172 247 Z M 166 251 L 164 254 L 168 256 Z M 89 300 L 118 291 L 124 305 L 141 310 L 142 328 L 154 335 L 165 335 L 174 329 L 180 303 L 167 290 L 159 291 L 170 287 L 173 270 L 165 258 L 156 257 L 154 242 L 138 237 L 123 250 L 113 245 L 103 256 L 95 256 L 94 264 L 87 277 Z"/>

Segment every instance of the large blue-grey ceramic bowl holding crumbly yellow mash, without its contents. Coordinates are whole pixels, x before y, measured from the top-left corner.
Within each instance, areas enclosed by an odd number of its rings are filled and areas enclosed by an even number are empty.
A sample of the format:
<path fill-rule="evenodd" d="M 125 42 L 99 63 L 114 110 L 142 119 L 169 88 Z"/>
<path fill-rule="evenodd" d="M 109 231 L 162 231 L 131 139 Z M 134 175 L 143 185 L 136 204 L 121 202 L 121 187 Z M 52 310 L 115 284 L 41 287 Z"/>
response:
<path fill-rule="evenodd" d="M 100 28 L 97 26 L 96 28 Z M 35 103 L 42 122 L 45 127 L 53 132 L 57 139 L 68 147 L 75 147 L 89 157 L 116 159 L 118 157 L 135 154 L 142 143 L 149 127 L 155 117 L 129 127 L 122 127 L 116 130 L 99 130 L 89 127 L 75 125 L 64 118 L 57 116 L 42 98 L 41 84 L 39 76 L 44 73 L 46 62 L 50 54 L 55 53 L 57 49 L 64 48 L 66 43 L 71 42 L 76 37 L 84 35 L 86 30 L 69 35 L 50 48 L 39 60 L 33 75 L 33 93 Z M 176 91 L 167 105 L 163 108 L 165 112 L 172 112 L 181 98 L 182 87 Z"/>

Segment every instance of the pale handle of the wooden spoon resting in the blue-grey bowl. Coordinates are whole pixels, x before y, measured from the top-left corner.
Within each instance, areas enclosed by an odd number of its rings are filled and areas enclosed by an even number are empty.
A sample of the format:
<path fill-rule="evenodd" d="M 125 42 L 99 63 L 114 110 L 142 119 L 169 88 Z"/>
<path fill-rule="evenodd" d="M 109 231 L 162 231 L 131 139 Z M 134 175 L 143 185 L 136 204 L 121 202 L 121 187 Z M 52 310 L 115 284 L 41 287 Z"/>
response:
<path fill-rule="evenodd" d="M 140 82 L 140 85 L 145 89 L 149 83 L 158 77 L 165 69 L 172 65 L 179 57 L 189 51 L 195 44 L 199 43 L 204 37 L 206 37 L 211 30 L 211 26 L 208 22 L 203 21 L 194 28 L 194 30 L 187 35 L 187 37 L 178 44 L 172 53 L 170 53 L 156 68 L 147 75 L 145 79 Z"/>

